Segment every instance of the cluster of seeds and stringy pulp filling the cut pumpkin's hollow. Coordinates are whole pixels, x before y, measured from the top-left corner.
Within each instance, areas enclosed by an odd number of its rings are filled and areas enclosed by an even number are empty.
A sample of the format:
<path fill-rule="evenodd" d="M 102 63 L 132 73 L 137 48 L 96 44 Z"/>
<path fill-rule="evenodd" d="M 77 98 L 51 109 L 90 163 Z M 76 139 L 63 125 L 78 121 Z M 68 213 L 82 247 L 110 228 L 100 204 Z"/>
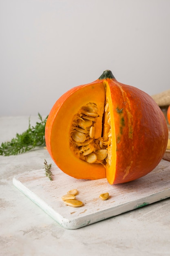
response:
<path fill-rule="evenodd" d="M 107 164 L 111 164 L 111 127 L 109 103 L 106 100 L 104 111 L 105 124 L 104 135 L 102 137 L 102 117 L 99 117 L 98 108 L 95 103 L 88 103 L 82 106 L 75 115 L 71 127 L 71 150 L 80 159 L 88 163 L 103 163 L 106 159 Z M 108 153 L 108 151 L 110 151 Z"/>

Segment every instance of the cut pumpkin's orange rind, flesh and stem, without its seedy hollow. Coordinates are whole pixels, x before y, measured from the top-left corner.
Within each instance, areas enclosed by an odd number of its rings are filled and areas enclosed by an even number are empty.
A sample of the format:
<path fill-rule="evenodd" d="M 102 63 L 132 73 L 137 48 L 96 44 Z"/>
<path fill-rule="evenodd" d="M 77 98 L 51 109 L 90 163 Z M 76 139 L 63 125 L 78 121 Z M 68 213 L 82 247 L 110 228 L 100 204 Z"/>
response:
<path fill-rule="evenodd" d="M 111 165 L 89 164 L 70 148 L 71 123 L 88 102 L 97 104 L 102 117 L 106 98 L 110 106 Z M 143 177 L 159 164 L 166 150 L 168 128 L 148 94 L 117 82 L 106 70 L 93 83 L 77 86 L 56 101 L 46 121 L 45 139 L 53 161 L 64 173 L 77 179 L 106 177 L 110 184 L 119 184 Z"/>

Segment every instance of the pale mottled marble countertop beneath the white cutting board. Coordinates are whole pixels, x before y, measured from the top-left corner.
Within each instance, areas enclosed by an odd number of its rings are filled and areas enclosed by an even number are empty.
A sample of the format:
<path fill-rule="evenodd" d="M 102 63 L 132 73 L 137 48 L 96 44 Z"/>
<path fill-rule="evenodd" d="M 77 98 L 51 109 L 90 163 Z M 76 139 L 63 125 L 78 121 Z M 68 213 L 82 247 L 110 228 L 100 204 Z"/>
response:
<path fill-rule="evenodd" d="M 0 117 L 0 143 L 29 117 Z M 38 121 L 31 117 L 31 125 Z M 170 255 L 170 198 L 80 229 L 64 229 L 13 185 L 13 177 L 51 162 L 44 148 L 0 156 L 0 256 Z"/>

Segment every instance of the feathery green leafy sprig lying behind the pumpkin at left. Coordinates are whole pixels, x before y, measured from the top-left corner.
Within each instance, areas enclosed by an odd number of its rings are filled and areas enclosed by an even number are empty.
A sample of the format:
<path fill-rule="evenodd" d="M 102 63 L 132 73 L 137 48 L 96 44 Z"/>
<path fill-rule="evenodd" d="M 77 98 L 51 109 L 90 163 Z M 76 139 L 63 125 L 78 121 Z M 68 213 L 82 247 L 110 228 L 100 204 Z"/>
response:
<path fill-rule="evenodd" d="M 17 133 L 16 137 L 11 139 L 11 141 L 2 142 L 0 155 L 18 155 L 37 146 L 45 146 L 45 125 L 48 116 L 43 120 L 42 116 L 38 113 L 38 117 L 40 122 L 36 122 L 35 126 L 31 126 L 29 119 L 29 127 L 25 132 Z"/>

